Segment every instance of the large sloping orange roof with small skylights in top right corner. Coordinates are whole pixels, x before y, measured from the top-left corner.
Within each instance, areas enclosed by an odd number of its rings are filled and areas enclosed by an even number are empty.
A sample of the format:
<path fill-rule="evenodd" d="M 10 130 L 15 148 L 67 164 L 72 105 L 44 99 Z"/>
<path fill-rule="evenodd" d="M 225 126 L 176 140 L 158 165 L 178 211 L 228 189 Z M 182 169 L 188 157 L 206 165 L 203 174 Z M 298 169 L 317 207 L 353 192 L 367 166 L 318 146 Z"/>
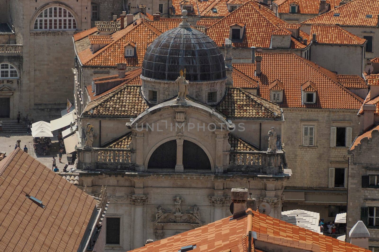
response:
<path fill-rule="evenodd" d="M 359 10 L 359 11 L 357 11 Z M 339 14 L 339 16 L 334 16 Z M 352 0 L 329 12 L 305 20 L 304 24 L 317 25 L 349 25 L 349 26 L 377 26 L 379 14 L 378 0 Z M 372 15 L 372 17 L 366 17 Z"/>

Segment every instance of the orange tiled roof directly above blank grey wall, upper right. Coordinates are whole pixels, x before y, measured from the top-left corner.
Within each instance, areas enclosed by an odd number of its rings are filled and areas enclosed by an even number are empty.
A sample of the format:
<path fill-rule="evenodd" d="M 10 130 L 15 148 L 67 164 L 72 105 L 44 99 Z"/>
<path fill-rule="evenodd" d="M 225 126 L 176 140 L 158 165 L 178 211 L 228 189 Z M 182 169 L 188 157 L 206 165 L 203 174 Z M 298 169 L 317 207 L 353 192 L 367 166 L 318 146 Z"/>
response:
<path fill-rule="evenodd" d="M 309 41 L 312 40 L 313 33 L 316 34 L 317 43 L 321 44 L 363 45 L 366 42 L 365 39 L 362 39 L 337 25 L 312 25 Z"/>

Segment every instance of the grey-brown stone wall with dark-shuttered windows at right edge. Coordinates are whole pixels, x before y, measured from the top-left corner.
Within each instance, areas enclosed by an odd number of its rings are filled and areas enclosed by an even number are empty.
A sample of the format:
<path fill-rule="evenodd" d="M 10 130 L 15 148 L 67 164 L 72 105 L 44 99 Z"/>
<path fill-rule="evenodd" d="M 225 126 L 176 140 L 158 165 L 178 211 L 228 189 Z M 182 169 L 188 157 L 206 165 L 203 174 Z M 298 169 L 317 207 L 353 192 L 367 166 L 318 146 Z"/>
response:
<path fill-rule="evenodd" d="M 379 175 L 379 133 L 374 131 L 351 151 L 349 159 L 349 186 L 347 233 L 360 220 L 361 207 L 379 207 L 379 189 L 362 188 L 363 175 Z M 370 246 L 379 246 L 379 229 L 368 229 Z M 349 237 L 346 237 L 349 241 Z"/>

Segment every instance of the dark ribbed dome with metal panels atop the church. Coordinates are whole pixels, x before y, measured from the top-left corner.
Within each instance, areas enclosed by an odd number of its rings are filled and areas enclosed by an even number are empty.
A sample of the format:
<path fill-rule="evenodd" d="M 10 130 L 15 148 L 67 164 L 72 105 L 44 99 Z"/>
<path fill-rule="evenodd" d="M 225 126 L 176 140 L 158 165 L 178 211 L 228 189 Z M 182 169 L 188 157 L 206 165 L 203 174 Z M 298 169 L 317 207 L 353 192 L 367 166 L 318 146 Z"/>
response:
<path fill-rule="evenodd" d="M 186 69 L 186 79 L 189 81 L 226 77 L 224 57 L 216 43 L 190 27 L 166 31 L 150 44 L 143 59 L 142 76 L 176 80 L 181 69 Z"/>

